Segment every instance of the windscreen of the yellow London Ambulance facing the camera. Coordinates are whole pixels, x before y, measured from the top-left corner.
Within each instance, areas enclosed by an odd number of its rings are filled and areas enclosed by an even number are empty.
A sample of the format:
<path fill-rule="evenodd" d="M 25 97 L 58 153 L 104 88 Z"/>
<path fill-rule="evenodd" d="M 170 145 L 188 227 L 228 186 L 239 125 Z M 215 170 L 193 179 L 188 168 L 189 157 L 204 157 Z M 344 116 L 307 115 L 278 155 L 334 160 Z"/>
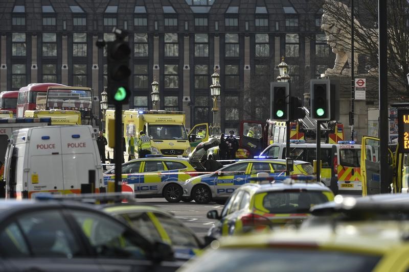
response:
<path fill-rule="evenodd" d="M 183 125 L 150 125 L 149 136 L 153 140 L 187 140 L 186 129 Z"/>

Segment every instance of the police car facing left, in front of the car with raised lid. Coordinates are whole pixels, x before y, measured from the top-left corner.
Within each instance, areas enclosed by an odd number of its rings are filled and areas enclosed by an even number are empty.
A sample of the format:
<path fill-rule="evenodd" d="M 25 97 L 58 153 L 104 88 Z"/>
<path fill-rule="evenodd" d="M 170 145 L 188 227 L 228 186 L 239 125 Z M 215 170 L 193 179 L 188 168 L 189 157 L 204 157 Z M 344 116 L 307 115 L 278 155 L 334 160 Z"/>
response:
<path fill-rule="evenodd" d="M 313 174 L 311 163 L 294 161 L 290 174 Z M 286 160 L 248 159 L 226 165 L 217 171 L 186 180 L 183 196 L 194 199 L 198 204 L 207 204 L 212 200 L 224 204 L 226 199 L 240 185 L 250 182 L 259 172 L 270 176 L 285 175 Z"/>

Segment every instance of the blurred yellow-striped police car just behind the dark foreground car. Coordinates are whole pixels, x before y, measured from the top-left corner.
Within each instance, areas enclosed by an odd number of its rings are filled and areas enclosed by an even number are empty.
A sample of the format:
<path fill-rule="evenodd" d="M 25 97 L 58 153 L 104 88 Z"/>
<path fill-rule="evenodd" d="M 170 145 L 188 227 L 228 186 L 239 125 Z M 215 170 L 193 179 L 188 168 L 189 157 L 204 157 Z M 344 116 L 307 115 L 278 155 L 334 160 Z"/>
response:
<path fill-rule="evenodd" d="M 170 212 L 148 205 L 109 205 L 103 210 L 137 230 L 151 242 L 172 246 L 175 258 L 187 260 L 204 246 L 196 234 Z"/>

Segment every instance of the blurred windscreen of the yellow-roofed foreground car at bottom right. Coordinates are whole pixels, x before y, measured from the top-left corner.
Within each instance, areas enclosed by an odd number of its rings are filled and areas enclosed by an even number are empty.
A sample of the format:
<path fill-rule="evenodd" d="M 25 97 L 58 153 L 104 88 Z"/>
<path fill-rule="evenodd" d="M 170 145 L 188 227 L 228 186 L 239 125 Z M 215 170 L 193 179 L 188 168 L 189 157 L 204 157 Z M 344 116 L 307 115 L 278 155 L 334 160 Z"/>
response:
<path fill-rule="evenodd" d="M 379 260 L 376 255 L 335 250 L 228 248 L 209 251 L 181 271 L 369 272 Z"/>

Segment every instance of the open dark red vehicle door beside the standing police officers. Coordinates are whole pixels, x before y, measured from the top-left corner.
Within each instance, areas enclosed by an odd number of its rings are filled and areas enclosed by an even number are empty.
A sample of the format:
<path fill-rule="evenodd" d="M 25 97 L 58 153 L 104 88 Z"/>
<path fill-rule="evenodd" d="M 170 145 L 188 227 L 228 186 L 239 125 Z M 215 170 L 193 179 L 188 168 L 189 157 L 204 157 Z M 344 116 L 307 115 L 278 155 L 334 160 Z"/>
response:
<path fill-rule="evenodd" d="M 240 122 L 240 148 L 248 150 L 249 159 L 263 151 L 263 123 L 244 120 Z"/>

